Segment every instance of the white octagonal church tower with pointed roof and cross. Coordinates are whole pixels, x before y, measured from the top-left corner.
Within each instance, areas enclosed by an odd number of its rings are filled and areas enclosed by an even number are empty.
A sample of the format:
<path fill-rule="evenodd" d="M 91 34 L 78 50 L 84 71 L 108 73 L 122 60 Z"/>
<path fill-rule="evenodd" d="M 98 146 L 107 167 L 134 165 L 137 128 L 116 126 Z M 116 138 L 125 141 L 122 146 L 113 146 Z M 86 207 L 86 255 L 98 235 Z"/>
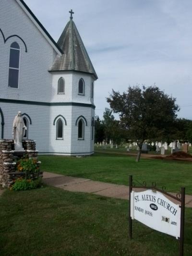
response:
<path fill-rule="evenodd" d="M 52 93 L 50 107 L 50 152 L 63 155 L 94 153 L 94 81 L 98 78 L 70 11 L 50 67 Z"/>

